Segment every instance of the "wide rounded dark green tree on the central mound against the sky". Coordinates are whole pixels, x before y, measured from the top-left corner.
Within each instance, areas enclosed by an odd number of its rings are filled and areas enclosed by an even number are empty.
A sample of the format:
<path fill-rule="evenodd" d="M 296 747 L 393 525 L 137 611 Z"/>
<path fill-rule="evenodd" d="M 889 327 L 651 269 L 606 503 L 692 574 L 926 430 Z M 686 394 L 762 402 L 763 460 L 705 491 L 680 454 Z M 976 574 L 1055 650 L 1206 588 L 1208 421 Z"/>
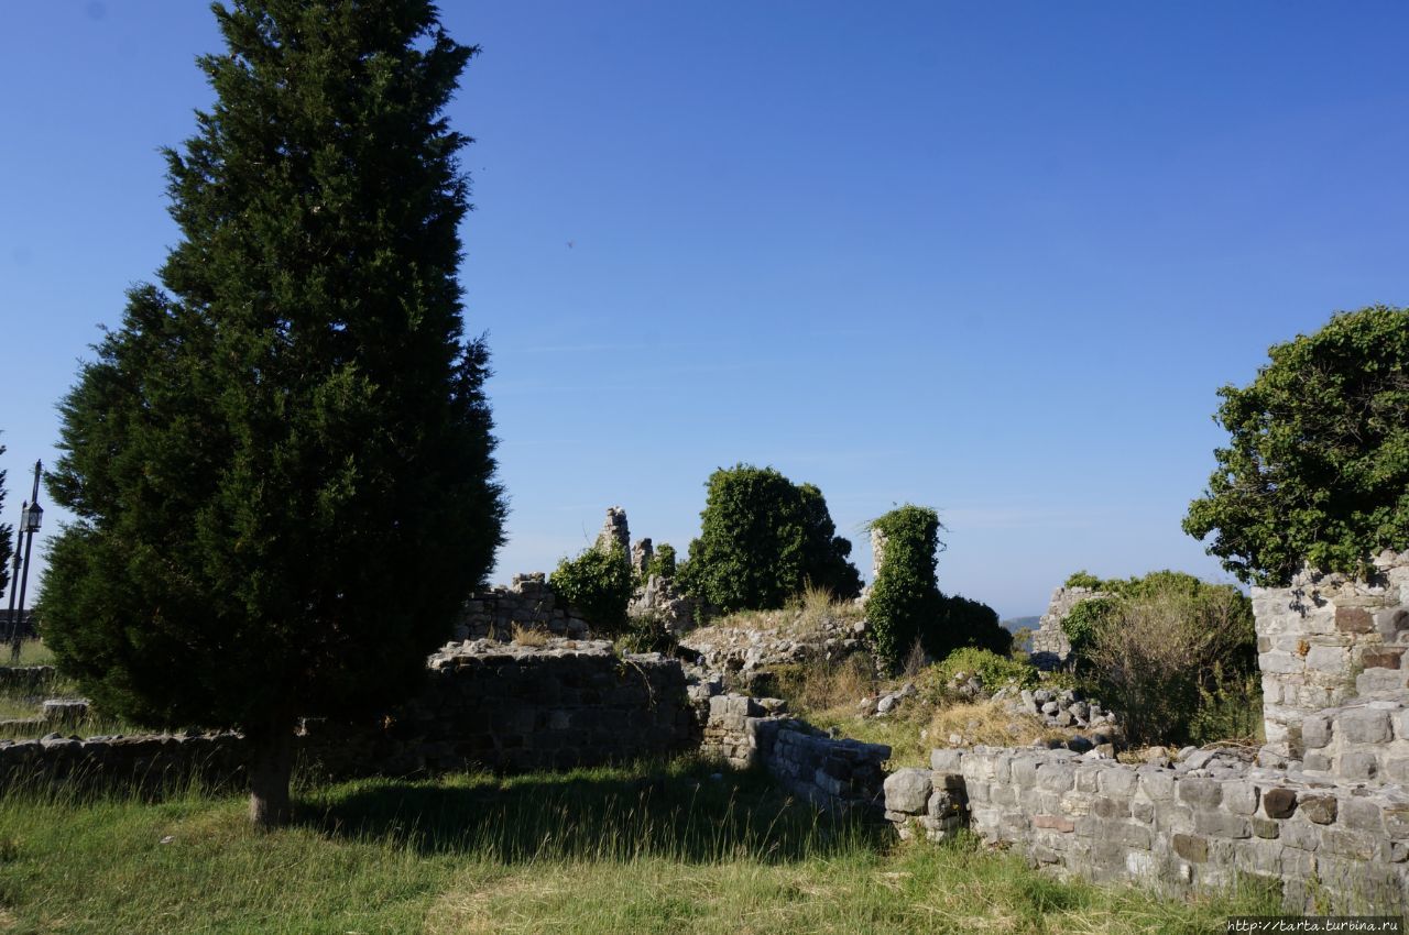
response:
<path fill-rule="evenodd" d="M 843 600 L 861 593 L 851 542 L 817 487 L 751 465 L 720 468 L 706 486 L 700 538 L 678 572 L 686 594 L 733 613 L 779 608 L 807 584 Z"/>

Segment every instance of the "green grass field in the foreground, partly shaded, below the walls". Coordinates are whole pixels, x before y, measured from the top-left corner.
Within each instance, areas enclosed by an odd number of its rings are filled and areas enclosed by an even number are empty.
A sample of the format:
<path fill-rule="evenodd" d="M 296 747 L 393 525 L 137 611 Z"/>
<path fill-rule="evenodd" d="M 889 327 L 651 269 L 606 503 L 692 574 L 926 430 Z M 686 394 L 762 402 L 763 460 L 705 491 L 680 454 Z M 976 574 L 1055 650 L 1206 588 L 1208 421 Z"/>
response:
<path fill-rule="evenodd" d="M 831 822 L 765 776 L 682 760 L 303 789 L 256 834 L 235 793 L 10 791 L 4 932 L 1203 932 L 1185 904 L 1061 883 L 974 841 Z M 716 777 L 717 776 L 717 777 Z"/>

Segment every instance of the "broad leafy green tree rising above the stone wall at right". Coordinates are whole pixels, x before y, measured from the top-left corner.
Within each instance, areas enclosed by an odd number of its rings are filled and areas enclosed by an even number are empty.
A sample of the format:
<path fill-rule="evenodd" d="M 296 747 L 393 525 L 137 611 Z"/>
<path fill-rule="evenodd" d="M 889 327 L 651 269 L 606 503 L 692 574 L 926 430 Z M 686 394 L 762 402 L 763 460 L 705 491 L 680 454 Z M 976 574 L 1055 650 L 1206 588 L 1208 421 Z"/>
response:
<path fill-rule="evenodd" d="M 1341 313 L 1268 353 L 1250 386 L 1219 390 L 1231 438 L 1185 532 L 1264 586 L 1409 549 L 1409 308 Z"/>

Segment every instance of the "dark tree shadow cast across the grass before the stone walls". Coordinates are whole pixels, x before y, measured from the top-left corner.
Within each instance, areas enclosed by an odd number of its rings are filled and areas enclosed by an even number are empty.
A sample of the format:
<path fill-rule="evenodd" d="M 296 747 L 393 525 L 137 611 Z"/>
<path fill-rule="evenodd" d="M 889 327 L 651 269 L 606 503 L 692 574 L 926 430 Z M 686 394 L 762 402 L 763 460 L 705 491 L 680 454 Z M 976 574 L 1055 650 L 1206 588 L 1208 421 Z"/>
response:
<path fill-rule="evenodd" d="M 859 817 L 788 797 L 766 773 L 707 765 L 359 780 L 310 790 L 299 814 L 299 824 L 334 836 L 503 863 L 793 862 L 879 852 L 889 841 Z"/>

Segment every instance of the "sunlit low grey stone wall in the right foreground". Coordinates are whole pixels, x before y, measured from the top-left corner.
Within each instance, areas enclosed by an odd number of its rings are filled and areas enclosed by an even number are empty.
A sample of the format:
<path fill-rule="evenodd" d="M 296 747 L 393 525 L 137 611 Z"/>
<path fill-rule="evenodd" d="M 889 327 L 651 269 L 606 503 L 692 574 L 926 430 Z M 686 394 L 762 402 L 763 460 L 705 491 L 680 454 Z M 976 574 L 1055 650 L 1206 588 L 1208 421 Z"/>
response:
<path fill-rule="evenodd" d="M 1169 894 L 1250 874 L 1281 886 L 1295 911 L 1327 896 L 1346 911 L 1409 908 L 1409 796 L 1398 786 L 1330 783 L 1209 752 L 1171 769 L 1068 751 L 934 751 L 927 784 L 899 776 L 886 782 L 898 824 L 952 831 L 961 822 L 936 821 L 936 790 L 945 790 L 938 810 L 967 798 L 975 832 L 1064 873 Z"/>

